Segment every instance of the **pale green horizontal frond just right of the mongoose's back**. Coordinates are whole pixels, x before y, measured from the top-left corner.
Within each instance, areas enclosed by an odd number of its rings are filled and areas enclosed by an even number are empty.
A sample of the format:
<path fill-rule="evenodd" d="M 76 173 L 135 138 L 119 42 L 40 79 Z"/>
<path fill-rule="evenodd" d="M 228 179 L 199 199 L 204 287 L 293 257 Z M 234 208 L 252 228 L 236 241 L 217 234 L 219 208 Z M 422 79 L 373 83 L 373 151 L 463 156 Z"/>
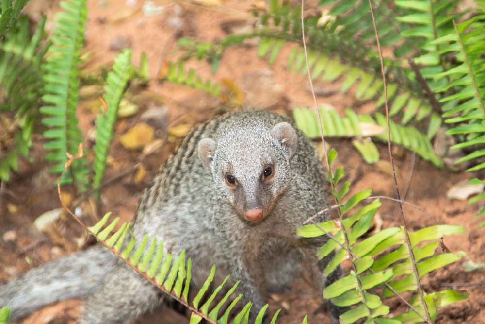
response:
<path fill-rule="evenodd" d="M 346 116 L 340 117 L 337 111 L 325 107 L 320 107 L 320 117 L 322 120 L 323 135 L 330 137 L 372 137 L 383 142 L 387 142 L 387 123 L 386 117 L 382 114 L 375 114 L 375 120 L 367 114 L 357 115 L 353 110 L 346 109 Z M 314 109 L 294 108 L 293 117 L 296 126 L 301 129 L 308 137 L 320 137 L 320 125 Z M 391 142 L 403 145 L 406 149 L 416 152 L 423 159 L 432 162 L 437 167 L 443 167 L 443 160 L 436 155 L 428 136 L 421 133 L 412 126 L 402 126 L 392 120 L 389 121 Z M 357 144 L 358 146 L 358 144 Z M 360 148 L 360 147 L 359 147 Z M 359 150 L 360 153 L 364 152 Z M 375 149 L 368 147 L 365 159 L 377 161 Z"/>

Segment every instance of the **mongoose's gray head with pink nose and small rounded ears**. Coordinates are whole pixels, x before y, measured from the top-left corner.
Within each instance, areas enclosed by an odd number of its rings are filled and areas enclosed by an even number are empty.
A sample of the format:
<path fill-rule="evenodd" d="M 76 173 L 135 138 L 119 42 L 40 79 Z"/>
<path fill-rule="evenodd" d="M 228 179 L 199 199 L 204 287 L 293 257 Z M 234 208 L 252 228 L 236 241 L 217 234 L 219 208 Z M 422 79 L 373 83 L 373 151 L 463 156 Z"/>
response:
<path fill-rule="evenodd" d="M 256 222 L 271 213 L 290 185 L 297 145 L 296 132 L 287 122 L 271 126 L 246 121 L 228 125 L 217 138 L 201 139 L 198 156 L 212 173 L 216 191 L 245 220 Z"/>

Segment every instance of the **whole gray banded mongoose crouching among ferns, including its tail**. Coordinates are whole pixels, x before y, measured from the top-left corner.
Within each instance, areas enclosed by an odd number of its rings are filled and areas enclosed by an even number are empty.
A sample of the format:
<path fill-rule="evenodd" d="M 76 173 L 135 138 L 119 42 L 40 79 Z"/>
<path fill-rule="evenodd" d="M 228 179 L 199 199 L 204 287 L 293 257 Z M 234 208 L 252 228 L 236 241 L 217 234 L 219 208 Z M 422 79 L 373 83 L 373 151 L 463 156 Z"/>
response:
<path fill-rule="evenodd" d="M 241 280 L 243 301 L 264 306 L 268 290 L 288 287 L 308 267 L 319 288 L 326 240 L 302 239 L 297 227 L 327 206 L 326 177 L 310 140 L 290 119 L 265 110 L 226 113 L 195 127 L 145 189 L 133 233 L 157 237 L 193 260 L 194 284 L 212 264 Z M 323 221 L 322 216 L 319 221 Z M 110 251 L 94 247 L 48 263 L 0 286 L 14 319 L 49 303 L 88 297 L 81 323 L 124 323 L 163 299 Z M 330 303 L 329 303 L 330 304 Z M 330 306 L 338 323 L 342 309 Z"/>

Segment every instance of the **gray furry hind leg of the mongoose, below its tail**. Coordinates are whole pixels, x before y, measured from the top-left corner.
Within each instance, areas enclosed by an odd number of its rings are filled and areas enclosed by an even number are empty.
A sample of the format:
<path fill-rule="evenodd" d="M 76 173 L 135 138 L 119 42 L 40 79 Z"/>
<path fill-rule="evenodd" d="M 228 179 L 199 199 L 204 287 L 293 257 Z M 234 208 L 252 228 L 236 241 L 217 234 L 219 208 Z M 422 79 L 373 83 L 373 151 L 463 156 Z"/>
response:
<path fill-rule="evenodd" d="M 86 301 L 81 323 L 129 323 L 160 305 L 162 297 L 161 290 L 133 269 L 122 266 Z"/>

